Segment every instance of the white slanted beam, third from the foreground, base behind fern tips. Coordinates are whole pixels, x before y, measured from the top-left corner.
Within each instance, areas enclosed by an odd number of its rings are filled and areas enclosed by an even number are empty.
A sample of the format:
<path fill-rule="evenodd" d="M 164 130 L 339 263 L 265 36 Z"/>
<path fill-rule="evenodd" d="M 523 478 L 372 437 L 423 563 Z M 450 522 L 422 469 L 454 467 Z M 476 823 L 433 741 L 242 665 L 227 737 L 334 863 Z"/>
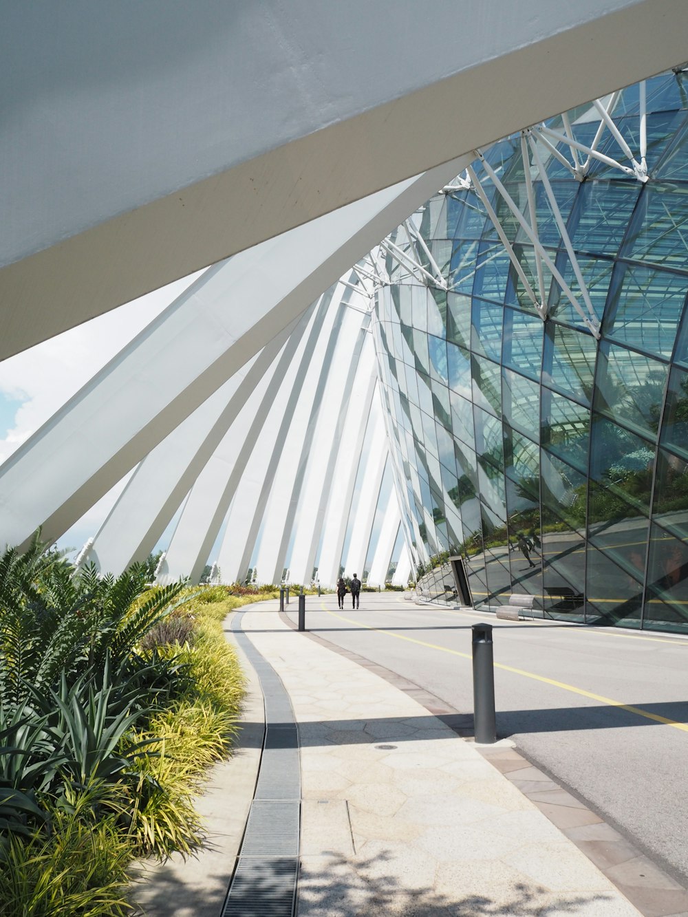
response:
<path fill-rule="evenodd" d="M 291 335 L 287 328 L 275 337 L 139 463 L 83 562 L 92 561 L 98 569 L 117 575 L 148 557 L 287 337 L 274 372 L 279 377 L 288 369 L 306 317 Z"/>

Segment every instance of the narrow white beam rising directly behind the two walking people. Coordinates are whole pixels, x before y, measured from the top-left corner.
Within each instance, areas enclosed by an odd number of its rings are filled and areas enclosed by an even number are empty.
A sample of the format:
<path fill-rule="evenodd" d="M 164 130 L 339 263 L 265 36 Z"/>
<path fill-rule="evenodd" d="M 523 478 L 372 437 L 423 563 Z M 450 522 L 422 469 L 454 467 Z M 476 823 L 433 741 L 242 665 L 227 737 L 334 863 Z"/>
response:
<path fill-rule="evenodd" d="M 371 541 L 372 523 L 380 499 L 384 469 L 389 458 L 387 436 L 381 416 L 380 399 L 374 398 L 368 425 L 369 444 L 362 469 L 361 487 L 351 506 L 349 547 L 342 564 L 346 573 L 361 574 L 368 545 Z"/>

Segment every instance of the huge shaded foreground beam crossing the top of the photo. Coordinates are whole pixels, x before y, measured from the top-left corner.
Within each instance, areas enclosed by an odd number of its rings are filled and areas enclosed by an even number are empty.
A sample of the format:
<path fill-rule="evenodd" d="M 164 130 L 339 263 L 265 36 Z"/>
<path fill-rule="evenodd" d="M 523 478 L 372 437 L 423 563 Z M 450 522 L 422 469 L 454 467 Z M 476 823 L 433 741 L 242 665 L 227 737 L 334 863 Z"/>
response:
<path fill-rule="evenodd" d="M 3 27 L 0 359 L 680 63 L 688 5 L 32 0 Z"/>

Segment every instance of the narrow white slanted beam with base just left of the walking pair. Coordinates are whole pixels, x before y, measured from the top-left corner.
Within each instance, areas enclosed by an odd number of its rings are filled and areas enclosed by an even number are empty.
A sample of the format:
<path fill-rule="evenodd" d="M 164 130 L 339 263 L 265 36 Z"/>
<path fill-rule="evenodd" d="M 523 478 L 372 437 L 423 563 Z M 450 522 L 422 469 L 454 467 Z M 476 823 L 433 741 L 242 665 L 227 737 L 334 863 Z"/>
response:
<path fill-rule="evenodd" d="M 350 435 L 341 440 L 338 450 L 337 465 L 325 511 L 326 524 L 323 526 L 320 553 L 317 557 L 317 576 L 324 586 L 334 585 L 338 580 L 361 450 L 368 430 L 376 387 L 373 348 L 365 347 L 361 353 L 359 371 L 354 381 L 345 421 Z"/>

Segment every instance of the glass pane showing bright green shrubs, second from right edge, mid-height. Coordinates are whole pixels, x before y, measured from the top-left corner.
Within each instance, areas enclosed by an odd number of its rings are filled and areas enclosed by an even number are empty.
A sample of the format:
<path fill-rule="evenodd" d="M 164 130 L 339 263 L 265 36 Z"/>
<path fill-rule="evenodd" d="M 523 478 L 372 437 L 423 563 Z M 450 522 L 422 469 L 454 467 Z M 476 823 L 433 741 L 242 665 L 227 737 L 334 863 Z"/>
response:
<path fill-rule="evenodd" d="M 655 452 L 651 444 L 598 415 L 593 419 L 590 474 L 610 491 L 649 512 Z M 592 501 L 592 497 L 591 497 Z M 592 513 L 592 503 L 591 503 Z M 604 515 L 604 508 L 600 506 Z M 602 518 L 598 513 L 597 518 Z"/>

